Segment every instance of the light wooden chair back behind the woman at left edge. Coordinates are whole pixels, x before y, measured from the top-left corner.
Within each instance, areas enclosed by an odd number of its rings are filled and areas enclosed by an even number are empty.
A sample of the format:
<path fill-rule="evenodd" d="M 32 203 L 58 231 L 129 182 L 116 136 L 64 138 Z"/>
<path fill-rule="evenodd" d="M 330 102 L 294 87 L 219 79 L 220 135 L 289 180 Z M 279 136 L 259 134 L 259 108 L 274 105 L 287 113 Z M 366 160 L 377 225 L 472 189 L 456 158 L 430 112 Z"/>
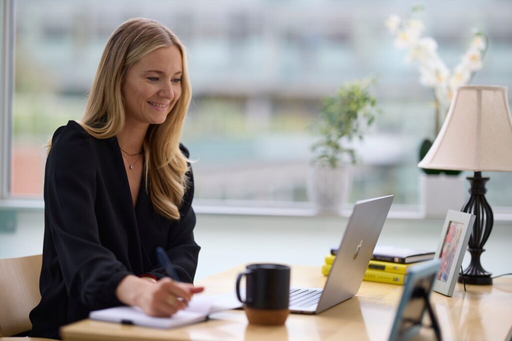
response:
<path fill-rule="evenodd" d="M 0 259 L 0 341 L 43 341 L 12 336 L 32 329 L 30 311 L 41 300 L 39 275 L 42 255 Z"/>

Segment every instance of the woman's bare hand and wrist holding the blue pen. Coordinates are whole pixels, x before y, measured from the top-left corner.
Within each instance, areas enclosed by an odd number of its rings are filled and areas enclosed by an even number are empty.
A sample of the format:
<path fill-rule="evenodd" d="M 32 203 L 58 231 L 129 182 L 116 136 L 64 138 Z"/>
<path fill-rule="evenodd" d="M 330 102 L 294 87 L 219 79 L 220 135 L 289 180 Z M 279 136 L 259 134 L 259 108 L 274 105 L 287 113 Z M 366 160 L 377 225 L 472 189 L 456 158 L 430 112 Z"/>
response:
<path fill-rule="evenodd" d="M 116 296 L 122 303 L 140 307 L 148 315 L 164 317 L 185 309 L 192 296 L 203 290 L 170 278 L 154 283 L 130 275 L 119 282 Z"/>

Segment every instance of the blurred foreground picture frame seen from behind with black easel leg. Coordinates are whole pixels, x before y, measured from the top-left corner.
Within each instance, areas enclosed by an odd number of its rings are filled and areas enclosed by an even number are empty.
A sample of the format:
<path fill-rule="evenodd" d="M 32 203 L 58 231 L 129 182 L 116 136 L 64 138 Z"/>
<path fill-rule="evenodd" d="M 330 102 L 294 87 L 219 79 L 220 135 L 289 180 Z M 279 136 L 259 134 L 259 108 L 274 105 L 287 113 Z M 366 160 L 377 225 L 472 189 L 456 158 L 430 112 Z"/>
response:
<path fill-rule="evenodd" d="M 437 317 L 430 304 L 430 293 L 441 262 L 433 259 L 412 265 L 403 287 L 402 298 L 396 310 L 395 320 L 391 327 L 389 341 L 405 340 L 416 335 L 423 327 L 423 315 L 428 311 L 431 326 L 437 340 L 441 340 L 441 330 Z"/>

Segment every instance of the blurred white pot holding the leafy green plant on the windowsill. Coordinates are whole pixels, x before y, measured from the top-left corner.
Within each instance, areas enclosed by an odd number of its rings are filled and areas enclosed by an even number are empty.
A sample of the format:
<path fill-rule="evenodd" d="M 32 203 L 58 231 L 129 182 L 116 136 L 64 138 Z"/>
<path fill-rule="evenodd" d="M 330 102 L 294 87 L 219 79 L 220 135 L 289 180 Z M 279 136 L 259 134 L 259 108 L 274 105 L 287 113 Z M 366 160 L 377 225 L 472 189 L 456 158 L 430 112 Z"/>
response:
<path fill-rule="evenodd" d="M 308 197 L 319 212 L 339 213 L 352 189 L 352 167 L 309 167 Z"/>

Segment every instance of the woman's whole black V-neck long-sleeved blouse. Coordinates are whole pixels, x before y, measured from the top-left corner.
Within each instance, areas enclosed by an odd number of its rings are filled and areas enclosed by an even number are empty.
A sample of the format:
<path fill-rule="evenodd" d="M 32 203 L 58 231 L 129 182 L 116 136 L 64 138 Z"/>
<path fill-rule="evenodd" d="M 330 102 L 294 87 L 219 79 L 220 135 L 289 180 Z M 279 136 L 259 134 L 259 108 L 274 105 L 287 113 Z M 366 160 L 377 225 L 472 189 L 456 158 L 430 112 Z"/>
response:
<path fill-rule="evenodd" d="M 45 237 L 40 303 L 30 313 L 33 337 L 58 338 L 58 328 L 91 310 L 121 305 L 127 275 L 167 276 L 155 248 L 166 249 L 183 282 L 192 282 L 200 247 L 194 241 L 194 180 L 181 218 L 156 213 L 144 176 L 134 208 L 116 138 L 96 139 L 69 121 L 55 131 L 45 171 Z M 188 151 L 180 146 L 188 157 Z"/>

